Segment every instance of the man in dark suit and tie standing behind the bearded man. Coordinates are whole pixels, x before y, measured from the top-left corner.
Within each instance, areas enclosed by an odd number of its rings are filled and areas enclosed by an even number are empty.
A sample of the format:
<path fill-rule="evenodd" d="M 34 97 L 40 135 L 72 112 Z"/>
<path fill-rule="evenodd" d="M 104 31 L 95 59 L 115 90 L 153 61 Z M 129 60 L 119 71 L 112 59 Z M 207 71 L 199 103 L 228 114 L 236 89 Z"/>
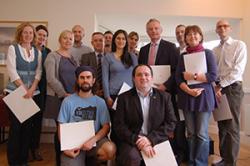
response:
<path fill-rule="evenodd" d="M 91 44 L 94 52 L 83 54 L 81 56 L 80 65 L 93 66 L 97 71 L 96 94 L 103 96 L 102 90 L 102 57 L 104 56 L 104 35 L 101 32 L 92 34 Z"/>

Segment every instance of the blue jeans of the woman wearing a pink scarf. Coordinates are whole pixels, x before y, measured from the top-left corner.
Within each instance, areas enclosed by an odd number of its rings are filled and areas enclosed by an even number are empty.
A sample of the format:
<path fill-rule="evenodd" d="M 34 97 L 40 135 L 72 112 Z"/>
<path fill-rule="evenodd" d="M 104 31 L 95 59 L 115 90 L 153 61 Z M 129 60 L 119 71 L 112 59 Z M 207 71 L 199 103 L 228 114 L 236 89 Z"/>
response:
<path fill-rule="evenodd" d="M 209 156 L 208 124 L 211 112 L 184 111 L 189 146 L 189 165 L 207 166 Z"/>

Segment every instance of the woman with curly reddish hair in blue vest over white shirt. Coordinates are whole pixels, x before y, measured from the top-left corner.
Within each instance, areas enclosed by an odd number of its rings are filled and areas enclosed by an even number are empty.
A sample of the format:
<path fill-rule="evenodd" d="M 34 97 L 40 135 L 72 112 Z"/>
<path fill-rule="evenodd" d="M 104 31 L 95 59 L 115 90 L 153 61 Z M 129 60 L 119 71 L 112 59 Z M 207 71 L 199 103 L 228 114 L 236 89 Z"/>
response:
<path fill-rule="evenodd" d="M 17 27 L 15 44 L 10 45 L 7 54 L 7 70 L 10 82 L 6 92 L 11 93 L 23 86 L 26 89 L 24 98 L 37 100 L 38 82 L 41 78 L 41 52 L 34 46 L 35 29 L 28 23 Z M 21 109 L 21 108 L 20 108 Z M 20 110 L 25 111 L 25 110 Z M 10 112 L 10 130 L 7 144 L 7 158 L 9 165 L 27 165 L 28 152 L 31 141 L 32 117 L 20 123 Z"/>

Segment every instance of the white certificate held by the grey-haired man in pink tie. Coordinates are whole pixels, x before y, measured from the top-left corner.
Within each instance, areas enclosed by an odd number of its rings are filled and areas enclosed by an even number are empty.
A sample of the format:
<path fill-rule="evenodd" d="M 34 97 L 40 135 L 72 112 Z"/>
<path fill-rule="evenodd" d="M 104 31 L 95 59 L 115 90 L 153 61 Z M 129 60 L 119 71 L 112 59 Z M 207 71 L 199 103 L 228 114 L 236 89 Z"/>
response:
<path fill-rule="evenodd" d="M 163 84 L 170 77 L 169 65 L 152 65 L 153 70 L 153 84 Z"/>

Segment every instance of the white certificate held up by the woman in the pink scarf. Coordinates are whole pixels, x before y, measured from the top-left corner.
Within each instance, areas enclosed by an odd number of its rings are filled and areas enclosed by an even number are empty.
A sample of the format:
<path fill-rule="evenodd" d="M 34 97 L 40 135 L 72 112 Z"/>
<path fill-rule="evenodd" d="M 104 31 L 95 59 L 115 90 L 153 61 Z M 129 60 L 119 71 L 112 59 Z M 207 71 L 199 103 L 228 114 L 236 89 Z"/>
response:
<path fill-rule="evenodd" d="M 197 52 L 184 55 L 184 64 L 187 72 L 191 73 L 207 73 L 207 61 L 205 52 Z M 187 84 L 199 84 L 200 81 L 188 80 Z"/>

